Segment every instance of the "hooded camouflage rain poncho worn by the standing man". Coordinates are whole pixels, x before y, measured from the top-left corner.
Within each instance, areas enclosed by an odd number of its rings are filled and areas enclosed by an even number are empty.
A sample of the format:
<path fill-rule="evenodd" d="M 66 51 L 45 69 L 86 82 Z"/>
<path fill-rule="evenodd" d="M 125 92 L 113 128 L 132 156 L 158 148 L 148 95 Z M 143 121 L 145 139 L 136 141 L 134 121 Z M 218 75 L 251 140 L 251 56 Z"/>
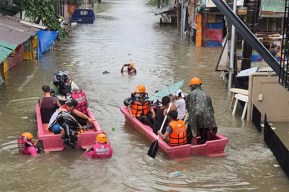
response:
<path fill-rule="evenodd" d="M 209 128 L 213 136 L 217 133 L 211 97 L 201 89 L 201 85 L 191 86 L 191 93 L 186 96 L 186 109 L 189 114 L 188 125 L 194 138 L 200 135 L 199 128 Z"/>

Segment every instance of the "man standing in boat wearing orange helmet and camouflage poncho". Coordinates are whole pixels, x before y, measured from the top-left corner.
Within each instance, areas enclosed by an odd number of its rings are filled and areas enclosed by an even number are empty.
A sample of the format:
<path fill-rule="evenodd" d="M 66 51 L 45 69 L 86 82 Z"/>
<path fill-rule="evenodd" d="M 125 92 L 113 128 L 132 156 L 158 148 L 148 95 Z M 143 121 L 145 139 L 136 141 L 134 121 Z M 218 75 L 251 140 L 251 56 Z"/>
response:
<path fill-rule="evenodd" d="M 186 96 L 186 109 L 189 115 L 186 130 L 187 144 L 191 144 L 192 137 L 197 136 L 201 136 L 201 144 L 206 143 L 208 130 L 212 130 L 213 137 L 217 133 L 211 97 L 201 89 L 201 84 L 199 78 L 192 78 L 189 85 L 191 93 Z"/>

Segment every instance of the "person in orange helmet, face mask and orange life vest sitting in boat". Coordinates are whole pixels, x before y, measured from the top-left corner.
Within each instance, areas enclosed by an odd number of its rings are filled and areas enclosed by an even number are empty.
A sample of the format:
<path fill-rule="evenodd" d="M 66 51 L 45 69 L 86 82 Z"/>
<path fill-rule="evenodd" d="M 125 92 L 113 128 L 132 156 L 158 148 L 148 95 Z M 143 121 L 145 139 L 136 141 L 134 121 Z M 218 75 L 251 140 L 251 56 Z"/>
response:
<path fill-rule="evenodd" d="M 148 94 L 145 93 L 145 86 L 138 85 L 132 94 L 134 97 L 131 98 L 127 107 L 131 120 L 136 117 L 141 123 L 152 127 L 155 120 L 155 111 L 147 100 Z"/>

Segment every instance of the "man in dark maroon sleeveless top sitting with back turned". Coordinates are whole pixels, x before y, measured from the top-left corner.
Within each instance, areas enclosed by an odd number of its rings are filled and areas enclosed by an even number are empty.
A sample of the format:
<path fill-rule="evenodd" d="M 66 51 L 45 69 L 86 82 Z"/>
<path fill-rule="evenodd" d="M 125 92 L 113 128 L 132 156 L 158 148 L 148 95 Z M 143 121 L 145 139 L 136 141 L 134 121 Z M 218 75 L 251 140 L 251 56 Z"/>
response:
<path fill-rule="evenodd" d="M 61 107 L 57 97 L 50 95 L 50 87 L 48 85 L 42 86 L 42 92 L 44 97 L 41 97 L 38 101 L 40 107 L 40 114 L 42 123 L 49 123 L 52 114 L 56 109 Z"/>

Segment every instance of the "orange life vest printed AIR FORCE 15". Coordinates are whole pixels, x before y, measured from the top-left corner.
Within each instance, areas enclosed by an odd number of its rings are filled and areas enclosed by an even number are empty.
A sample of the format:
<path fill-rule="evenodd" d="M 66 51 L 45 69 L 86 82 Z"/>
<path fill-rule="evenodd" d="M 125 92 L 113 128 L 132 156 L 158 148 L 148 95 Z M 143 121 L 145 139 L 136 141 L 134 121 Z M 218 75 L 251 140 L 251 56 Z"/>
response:
<path fill-rule="evenodd" d="M 187 142 L 186 138 L 186 126 L 183 120 L 171 121 L 169 126 L 172 127 L 172 133 L 169 134 L 169 145 L 179 146 L 185 145 Z"/>

